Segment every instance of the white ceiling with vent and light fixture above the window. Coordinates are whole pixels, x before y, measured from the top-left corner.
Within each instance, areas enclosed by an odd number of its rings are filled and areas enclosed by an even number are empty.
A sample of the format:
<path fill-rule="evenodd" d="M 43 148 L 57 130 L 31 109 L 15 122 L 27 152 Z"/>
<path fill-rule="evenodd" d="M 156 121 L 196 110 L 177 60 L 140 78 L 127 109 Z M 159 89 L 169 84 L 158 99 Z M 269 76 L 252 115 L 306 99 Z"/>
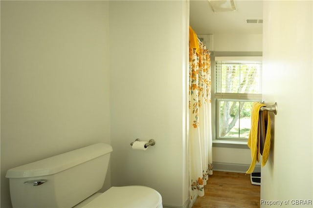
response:
<path fill-rule="evenodd" d="M 235 0 L 237 10 L 213 12 L 208 0 L 190 0 L 190 26 L 197 34 L 262 34 L 262 23 L 246 23 L 262 19 L 262 0 Z"/>

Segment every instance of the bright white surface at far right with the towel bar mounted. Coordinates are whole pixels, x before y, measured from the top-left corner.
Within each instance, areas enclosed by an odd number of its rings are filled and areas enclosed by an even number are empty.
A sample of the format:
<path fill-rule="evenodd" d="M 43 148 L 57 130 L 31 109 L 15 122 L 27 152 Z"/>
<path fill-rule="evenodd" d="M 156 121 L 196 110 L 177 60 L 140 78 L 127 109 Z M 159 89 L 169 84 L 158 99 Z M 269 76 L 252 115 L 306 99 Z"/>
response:
<path fill-rule="evenodd" d="M 278 113 L 261 200 L 312 207 L 291 200 L 313 200 L 313 2 L 265 1 L 263 11 L 263 95 Z"/>

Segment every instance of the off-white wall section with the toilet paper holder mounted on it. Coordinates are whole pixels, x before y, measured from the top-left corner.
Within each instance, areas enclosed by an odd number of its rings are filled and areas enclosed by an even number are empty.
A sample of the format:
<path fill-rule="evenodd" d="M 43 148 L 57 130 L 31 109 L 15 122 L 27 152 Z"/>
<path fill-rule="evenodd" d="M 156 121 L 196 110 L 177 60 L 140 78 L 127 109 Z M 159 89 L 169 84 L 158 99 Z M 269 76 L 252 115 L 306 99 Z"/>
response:
<path fill-rule="evenodd" d="M 173 207 L 188 199 L 187 3 L 110 2 L 112 185 L 153 187 Z M 136 138 L 156 146 L 132 150 Z"/>

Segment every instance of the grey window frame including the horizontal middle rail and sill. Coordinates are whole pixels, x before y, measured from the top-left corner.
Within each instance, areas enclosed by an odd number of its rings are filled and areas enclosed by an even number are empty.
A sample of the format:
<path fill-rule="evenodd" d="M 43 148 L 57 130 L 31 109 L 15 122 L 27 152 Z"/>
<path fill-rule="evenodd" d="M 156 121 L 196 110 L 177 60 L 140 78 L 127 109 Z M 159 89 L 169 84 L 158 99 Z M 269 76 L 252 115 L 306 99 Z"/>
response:
<path fill-rule="evenodd" d="M 239 61 L 240 57 L 245 57 L 247 59 L 251 59 L 251 61 L 256 57 L 258 57 L 258 61 L 262 62 L 262 52 L 218 52 L 218 51 L 211 51 L 211 99 L 212 99 L 212 138 L 213 138 L 213 146 L 217 147 L 230 147 L 230 148 L 248 148 L 247 139 L 236 139 L 236 138 L 218 138 L 218 125 L 219 125 L 219 118 L 218 118 L 218 99 L 225 99 L 225 100 L 238 100 L 236 98 L 238 94 L 236 93 L 222 93 L 224 96 L 223 98 L 216 96 L 215 92 L 215 57 L 222 57 L 225 59 L 229 59 L 230 57 L 233 58 L 234 61 Z M 249 58 L 248 58 L 249 57 Z M 261 73 L 262 75 L 262 73 Z M 220 94 L 220 93 L 217 93 Z M 220 94 L 221 95 L 221 94 Z M 262 94 L 245 94 L 242 93 L 239 95 L 240 101 L 262 101 Z"/>

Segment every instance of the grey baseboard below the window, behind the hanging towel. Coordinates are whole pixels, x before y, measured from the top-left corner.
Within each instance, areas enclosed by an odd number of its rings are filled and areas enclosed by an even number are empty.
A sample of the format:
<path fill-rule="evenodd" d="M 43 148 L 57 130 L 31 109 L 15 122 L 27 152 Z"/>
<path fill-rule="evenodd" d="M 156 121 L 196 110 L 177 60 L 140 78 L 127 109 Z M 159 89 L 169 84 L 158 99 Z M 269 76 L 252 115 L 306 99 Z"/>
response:
<path fill-rule="evenodd" d="M 250 165 L 248 164 L 220 163 L 220 162 L 213 162 L 212 166 L 213 166 L 213 171 L 216 170 L 216 171 L 238 172 L 238 173 L 246 173 L 246 171 L 250 167 Z M 261 172 L 261 166 L 255 165 L 253 172 Z"/>

